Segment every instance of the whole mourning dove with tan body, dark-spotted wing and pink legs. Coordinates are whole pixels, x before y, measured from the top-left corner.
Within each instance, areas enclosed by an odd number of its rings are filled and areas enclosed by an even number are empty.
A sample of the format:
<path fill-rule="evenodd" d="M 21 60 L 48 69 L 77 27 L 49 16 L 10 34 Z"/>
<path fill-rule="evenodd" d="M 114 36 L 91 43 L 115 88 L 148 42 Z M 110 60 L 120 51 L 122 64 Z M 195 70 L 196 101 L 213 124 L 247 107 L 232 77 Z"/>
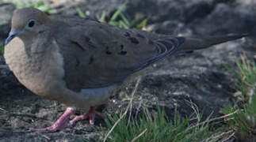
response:
<path fill-rule="evenodd" d="M 210 47 L 246 35 L 201 39 L 164 36 L 123 29 L 90 18 L 48 17 L 38 9 L 17 9 L 6 39 L 6 63 L 36 95 L 64 103 L 67 110 L 44 129 L 71 128 L 86 118 L 94 123 L 95 107 L 137 73 L 170 54 Z M 90 109 L 75 116 L 75 109 Z M 73 117 L 71 117 L 73 116 Z M 67 119 L 72 118 L 67 122 Z"/>

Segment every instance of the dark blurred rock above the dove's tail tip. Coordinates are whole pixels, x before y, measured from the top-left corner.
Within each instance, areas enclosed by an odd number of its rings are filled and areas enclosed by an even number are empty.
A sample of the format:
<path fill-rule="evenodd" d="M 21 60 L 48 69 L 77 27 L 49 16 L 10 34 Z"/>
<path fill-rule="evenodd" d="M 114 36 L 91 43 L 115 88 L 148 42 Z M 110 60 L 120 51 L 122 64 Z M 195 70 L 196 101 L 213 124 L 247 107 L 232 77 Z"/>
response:
<path fill-rule="evenodd" d="M 189 23 L 198 35 L 246 33 L 254 28 L 256 14 L 248 9 L 218 4 L 208 17 Z"/>

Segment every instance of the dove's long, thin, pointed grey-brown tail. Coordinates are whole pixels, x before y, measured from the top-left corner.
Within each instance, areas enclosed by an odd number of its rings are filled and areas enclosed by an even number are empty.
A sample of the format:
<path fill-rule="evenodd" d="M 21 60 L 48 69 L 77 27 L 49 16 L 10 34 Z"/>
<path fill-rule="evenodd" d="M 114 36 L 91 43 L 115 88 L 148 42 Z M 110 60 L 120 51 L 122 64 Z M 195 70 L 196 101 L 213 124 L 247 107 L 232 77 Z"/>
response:
<path fill-rule="evenodd" d="M 211 47 L 212 45 L 225 43 L 227 41 L 235 40 L 243 38 L 244 36 L 248 36 L 248 34 L 235 34 L 229 36 L 208 36 L 202 38 L 185 38 L 185 43 L 181 45 L 178 51 L 181 52 L 188 52 L 192 50 L 200 50 L 207 47 Z"/>

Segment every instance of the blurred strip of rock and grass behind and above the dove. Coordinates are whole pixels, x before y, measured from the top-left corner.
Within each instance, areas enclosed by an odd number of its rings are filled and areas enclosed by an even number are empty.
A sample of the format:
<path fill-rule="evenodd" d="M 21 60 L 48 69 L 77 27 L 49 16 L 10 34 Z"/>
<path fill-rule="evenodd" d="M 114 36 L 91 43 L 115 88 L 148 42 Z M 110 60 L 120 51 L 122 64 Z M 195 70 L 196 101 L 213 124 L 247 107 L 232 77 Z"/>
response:
<path fill-rule="evenodd" d="M 185 36 L 252 32 L 256 21 L 254 0 L 2 0 L 1 43 L 10 31 L 13 10 L 23 7 L 36 7 L 48 14 L 81 16 L 82 13 L 97 20 L 102 20 L 103 15 L 106 21 L 121 9 L 128 21 L 147 18 L 148 31 Z M 120 16 L 115 19 L 120 20 Z"/>

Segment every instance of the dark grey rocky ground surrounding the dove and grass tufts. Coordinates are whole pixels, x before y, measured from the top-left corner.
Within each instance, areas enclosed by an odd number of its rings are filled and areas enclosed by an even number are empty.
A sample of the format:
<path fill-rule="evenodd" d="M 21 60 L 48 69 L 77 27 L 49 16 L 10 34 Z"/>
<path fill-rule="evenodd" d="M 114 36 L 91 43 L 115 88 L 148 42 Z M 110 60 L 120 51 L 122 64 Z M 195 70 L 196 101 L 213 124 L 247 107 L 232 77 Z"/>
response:
<path fill-rule="evenodd" d="M 1 2 L 1 1 L 0 1 Z M 0 4 L 0 43 L 10 31 L 10 13 L 15 6 L 10 1 Z M 54 1 L 57 14 L 77 15 L 75 6 L 91 17 L 102 11 L 113 13 L 121 6 L 120 0 Z M 256 31 L 256 3 L 253 0 L 130 0 L 125 9 L 131 18 L 149 17 L 147 30 L 163 34 L 183 36 L 221 35 Z M 254 35 L 254 34 L 252 34 Z M 173 118 L 178 107 L 182 116 L 193 114 L 191 103 L 197 105 L 204 117 L 220 116 L 220 107 L 232 105 L 235 78 L 223 64 L 235 67 L 235 59 L 246 54 L 255 56 L 255 36 L 223 43 L 193 54 L 173 56 L 154 65 L 155 71 L 144 75 L 133 101 L 133 111 L 147 107 L 155 111 L 157 102 L 166 114 Z M 256 44 L 255 44 L 256 45 Z M 134 83 L 121 88 L 103 107 L 105 114 L 114 114 L 127 107 Z M 63 113 L 65 107 L 59 103 L 41 99 L 32 94 L 6 68 L 0 55 L 0 141 L 75 141 L 97 139 L 103 121 L 96 125 L 88 121 L 79 122 L 74 129 L 57 133 L 27 133 L 30 127 L 45 127 Z M 120 109 L 117 109 L 120 108 Z M 83 111 L 78 111 L 82 113 Z"/>

